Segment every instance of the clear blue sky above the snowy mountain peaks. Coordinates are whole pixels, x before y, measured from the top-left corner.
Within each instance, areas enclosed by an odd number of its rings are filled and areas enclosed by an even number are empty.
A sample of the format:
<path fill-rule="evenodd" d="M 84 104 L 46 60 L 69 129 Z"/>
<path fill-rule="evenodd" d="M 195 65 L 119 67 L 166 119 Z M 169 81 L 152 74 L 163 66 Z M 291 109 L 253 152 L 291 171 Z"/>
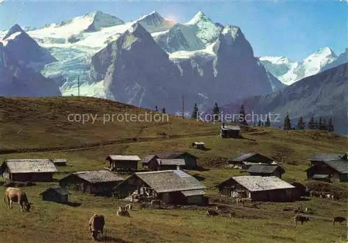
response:
<path fill-rule="evenodd" d="M 336 54 L 348 47 L 348 3 L 339 0 L 5 0 L 0 3 L 0 29 L 15 23 L 42 26 L 95 10 L 125 22 L 154 10 L 176 22 L 187 22 L 200 10 L 214 22 L 241 27 L 255 56 L 287 56 L 300 61 L 319 47 L 329 46 Z"/>

